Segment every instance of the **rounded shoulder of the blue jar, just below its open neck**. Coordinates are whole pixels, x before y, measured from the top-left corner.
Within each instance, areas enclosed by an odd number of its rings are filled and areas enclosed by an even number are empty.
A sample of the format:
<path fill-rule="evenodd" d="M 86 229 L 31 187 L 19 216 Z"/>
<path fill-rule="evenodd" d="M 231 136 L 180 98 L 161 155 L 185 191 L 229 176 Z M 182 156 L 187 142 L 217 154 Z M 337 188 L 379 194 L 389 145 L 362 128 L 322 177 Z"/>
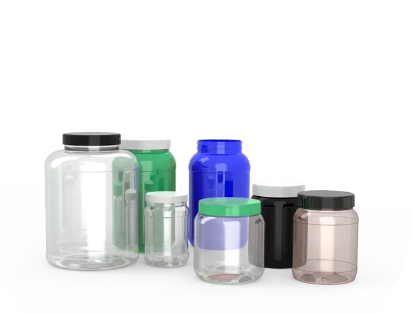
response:
<path fill-rule="evenodd" d="M 245 154 L 219 155 L 196 153 L 189 162 L 190 171 L 250 171 L 250 162 Z"/>

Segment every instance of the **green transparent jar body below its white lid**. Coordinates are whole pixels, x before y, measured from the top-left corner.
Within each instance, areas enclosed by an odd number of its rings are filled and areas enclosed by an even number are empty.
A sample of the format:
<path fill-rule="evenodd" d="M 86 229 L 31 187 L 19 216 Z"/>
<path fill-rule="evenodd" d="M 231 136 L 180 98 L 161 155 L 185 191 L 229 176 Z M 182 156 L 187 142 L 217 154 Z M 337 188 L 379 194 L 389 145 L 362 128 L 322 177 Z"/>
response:
<path fill-rule="evenodd" d="M 176 190 L 176 160 L 168 149 L 129 150 L 138 162 L 139 252 L 145 252 L 145 194 Z"/>

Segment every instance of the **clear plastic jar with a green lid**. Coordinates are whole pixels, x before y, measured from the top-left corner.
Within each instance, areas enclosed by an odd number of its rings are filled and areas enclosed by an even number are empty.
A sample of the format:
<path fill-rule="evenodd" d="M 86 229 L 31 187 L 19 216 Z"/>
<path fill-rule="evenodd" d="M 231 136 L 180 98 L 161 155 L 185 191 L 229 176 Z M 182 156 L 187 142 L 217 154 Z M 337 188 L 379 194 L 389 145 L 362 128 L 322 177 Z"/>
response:
<path fill-rule="evenodd" d="M 260 201 L 208 198 L 195 219 L 194 268 L 210 283 L 244 284 L 264 271 L 264 228 Z"/>

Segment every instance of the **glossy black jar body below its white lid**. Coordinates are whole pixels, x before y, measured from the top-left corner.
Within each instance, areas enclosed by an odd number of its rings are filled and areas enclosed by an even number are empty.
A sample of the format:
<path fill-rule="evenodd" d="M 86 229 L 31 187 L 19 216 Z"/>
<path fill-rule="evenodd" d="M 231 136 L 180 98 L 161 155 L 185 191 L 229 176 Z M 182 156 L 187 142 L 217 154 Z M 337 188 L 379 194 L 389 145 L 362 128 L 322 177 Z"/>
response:
<path fill-rule="evenodd" d="M 265 220 L 265 267 L 291 268 L 293 257 L 293 217 L 297 197 L 274 198 L 253 195 L 262 203 Z"/>

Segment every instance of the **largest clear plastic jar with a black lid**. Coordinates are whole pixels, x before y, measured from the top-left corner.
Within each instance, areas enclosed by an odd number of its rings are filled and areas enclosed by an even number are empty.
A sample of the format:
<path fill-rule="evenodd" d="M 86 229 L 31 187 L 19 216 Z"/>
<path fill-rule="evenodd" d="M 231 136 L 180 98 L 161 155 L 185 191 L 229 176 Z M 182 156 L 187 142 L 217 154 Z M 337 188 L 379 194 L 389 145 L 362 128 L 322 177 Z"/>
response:
<path fill-rule="evenodd" d="M 46 172 L 46 257 L 75 270 L 119 268 L 137 251 L 137 161 L 117 133 L 63 134 Z"/>

